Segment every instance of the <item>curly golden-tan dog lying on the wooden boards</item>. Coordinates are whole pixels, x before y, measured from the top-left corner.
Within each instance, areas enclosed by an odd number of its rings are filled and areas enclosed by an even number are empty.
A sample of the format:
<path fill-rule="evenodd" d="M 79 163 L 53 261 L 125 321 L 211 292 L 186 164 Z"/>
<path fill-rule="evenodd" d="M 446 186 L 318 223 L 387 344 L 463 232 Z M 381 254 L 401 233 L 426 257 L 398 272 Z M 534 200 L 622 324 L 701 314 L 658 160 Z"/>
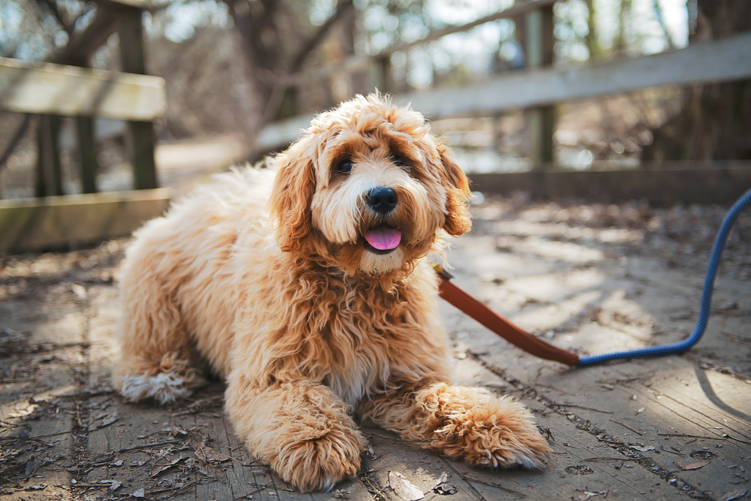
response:
<path fill-rule="evenodd" d="M 469 231 L 469 195 L 421 113 L 376 92 L 316 116 L 270 168 L 218 174 L 135 233 L 116 388 L 164 404 L 216 373 L 237 436 L 301 491 L 356 474 L 353 415 L 473 465 L 544 467 L 526 407 L 449 382 L 427 255 Z"/>

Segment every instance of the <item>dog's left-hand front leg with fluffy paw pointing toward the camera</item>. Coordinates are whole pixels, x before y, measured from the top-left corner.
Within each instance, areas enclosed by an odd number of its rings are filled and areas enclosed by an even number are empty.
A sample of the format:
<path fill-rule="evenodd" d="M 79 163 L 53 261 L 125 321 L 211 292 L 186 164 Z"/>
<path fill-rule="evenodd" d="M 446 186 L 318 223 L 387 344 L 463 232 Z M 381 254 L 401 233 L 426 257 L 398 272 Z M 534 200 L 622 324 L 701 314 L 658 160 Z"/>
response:
<path fill-rule="evenodd" d="M 235 431 L 250 452 L 300 490 L 330 490 L 360 468 L 366 440 L 351 407 L 314 382 L 249 388 L 232 374 L 226 393 Z"/>

